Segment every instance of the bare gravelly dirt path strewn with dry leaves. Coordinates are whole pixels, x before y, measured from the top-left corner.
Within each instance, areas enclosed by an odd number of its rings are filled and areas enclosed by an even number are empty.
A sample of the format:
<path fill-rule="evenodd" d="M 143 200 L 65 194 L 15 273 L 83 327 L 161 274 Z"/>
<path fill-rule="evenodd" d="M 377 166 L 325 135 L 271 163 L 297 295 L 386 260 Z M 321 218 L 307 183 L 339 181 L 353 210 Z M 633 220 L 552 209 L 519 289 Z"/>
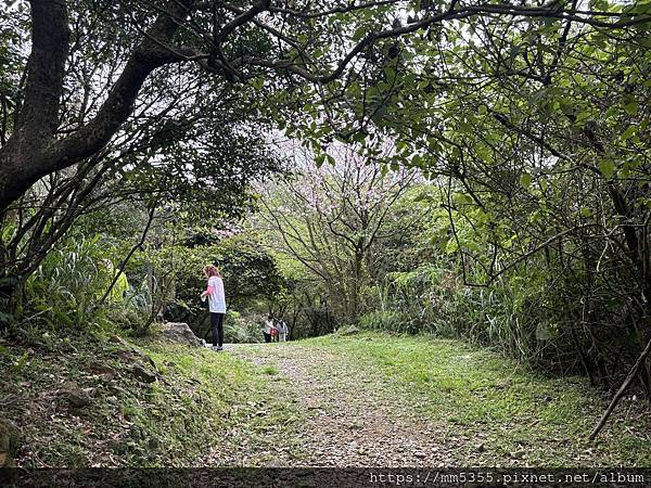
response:
<path fill-rule="evenodd" d="M 379 375 L 361 373 L 349 360 L 293 344 L 238 345 L 227 350 L 278 369 L 278 394 L 295 398 L 297 409 L 306 416 L 292 439 L 268 439 L 277 442 L 279 450 L 290 440 L 298 440 L 294 447 L 302 448 L 294 459 L 283 458 L 284 461 L 280 459 L 272 464 L 384 467 L 454 464 L 454 455 L 446 450 L 445 429 L 416 414 Z M 269 448 L 269 442 L 264 444 L 267 446 L 257 449 Z M 255 457 L 251 449 L 244 451 Z M 238 464 L 245 462 L 242 455 Z"/>

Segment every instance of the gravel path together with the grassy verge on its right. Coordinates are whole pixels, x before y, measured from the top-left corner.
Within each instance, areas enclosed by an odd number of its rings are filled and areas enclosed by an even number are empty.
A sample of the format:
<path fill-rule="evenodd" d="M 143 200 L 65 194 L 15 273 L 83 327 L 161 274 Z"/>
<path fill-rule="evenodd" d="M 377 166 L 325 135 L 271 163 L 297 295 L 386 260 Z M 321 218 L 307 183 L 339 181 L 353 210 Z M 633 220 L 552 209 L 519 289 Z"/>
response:
<path fill-rule="evenodd" d="M 603 466 L 651 462 L 650 411 L 607 401 L 585 378 L 551 378 L 457 341 L 360 333 L 229 345 L 264 393 L 240 397 L 207 465 Z M 215 357 L 217 358 L 217 357 Z M 224 357 L 226 358 L 226 357 Z"/>

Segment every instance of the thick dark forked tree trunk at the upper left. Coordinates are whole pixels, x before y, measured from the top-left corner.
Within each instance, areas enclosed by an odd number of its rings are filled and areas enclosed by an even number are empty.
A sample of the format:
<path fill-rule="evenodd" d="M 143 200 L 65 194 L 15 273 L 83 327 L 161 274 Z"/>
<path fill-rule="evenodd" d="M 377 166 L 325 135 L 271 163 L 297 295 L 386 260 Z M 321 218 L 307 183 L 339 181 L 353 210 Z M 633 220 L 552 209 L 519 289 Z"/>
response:
<path fill-rule="evenodd" d="M 133 110 L 149 75 L 182 57 L 165 46 L 188 16 L 194 0 L 171 0 L 135 49 L 94 118 L 76 132 L 54 138 L 65 63 L 69 52 L 65 0 L 31 0 L 31 53 L 26 66 L 25 99 L 15 128 L 0 149 L 0 214 L 40 178 L 101 151 Z"/>

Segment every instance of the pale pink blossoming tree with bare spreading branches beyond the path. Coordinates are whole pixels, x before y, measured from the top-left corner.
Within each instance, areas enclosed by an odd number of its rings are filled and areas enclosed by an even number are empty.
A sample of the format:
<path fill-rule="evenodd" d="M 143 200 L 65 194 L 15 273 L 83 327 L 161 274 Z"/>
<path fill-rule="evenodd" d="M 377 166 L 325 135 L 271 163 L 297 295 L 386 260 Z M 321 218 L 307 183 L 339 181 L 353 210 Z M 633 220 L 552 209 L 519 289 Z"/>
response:
<path fill-rule="evenodd" d="M 392 209 L 418 178 L 413 170 L 388 170 L 393 153 L 385 144 L 369 158 L 333 144 L 329 163 L 318 165 L 298 151 L 297 172 L 263 190 L 260 219 L 273 246 L 318 282 L 339 320 L 354 323 L 363 312 L 363 291 L 381 260 L 378 245 L 396 232 Z"/>

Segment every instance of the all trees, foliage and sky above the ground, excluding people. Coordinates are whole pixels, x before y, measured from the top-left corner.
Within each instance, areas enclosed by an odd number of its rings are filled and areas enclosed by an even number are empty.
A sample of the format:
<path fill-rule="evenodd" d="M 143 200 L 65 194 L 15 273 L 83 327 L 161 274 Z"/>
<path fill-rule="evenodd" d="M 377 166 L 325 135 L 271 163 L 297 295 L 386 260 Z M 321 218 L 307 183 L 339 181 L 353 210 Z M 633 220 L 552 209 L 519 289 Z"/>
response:
<path fill-rule="evenodd" d="M 303 4 L 305 3 L 305 4 Z M 263 317 L 651 398 L 651 3 L 0 10 L 2 334 Z"/>

